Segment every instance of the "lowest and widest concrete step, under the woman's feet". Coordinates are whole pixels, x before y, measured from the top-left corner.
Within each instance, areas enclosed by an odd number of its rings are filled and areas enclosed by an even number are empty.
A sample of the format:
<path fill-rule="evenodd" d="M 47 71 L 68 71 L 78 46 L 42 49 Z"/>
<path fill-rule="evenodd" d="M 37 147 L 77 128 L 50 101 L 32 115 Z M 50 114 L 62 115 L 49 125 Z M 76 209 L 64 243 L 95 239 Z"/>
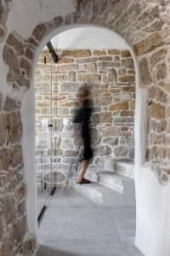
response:
<path fill-rule="evenodd" d="M 135 200 L 126 193 L 118 193 L 113 189 L 109 189 L 99 183 L 89 183 L 79 185 L 76 180 L 71 179 L 69 185 L 77 190 L 78 193 L 86 196 L 102 206 L 135 206 Z"/>

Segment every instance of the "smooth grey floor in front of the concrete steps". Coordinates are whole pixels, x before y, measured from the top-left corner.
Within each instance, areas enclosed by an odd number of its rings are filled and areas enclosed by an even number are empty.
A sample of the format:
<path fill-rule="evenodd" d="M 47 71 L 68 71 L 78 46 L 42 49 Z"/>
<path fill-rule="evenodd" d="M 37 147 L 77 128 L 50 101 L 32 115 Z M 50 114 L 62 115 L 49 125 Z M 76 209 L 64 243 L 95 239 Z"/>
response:
<path fill-rule="evenodd" d="M 100 207 L 59 189 L 39 228 L 37 256 L 142 256 L 134 236 L 135 207 Z"/>

